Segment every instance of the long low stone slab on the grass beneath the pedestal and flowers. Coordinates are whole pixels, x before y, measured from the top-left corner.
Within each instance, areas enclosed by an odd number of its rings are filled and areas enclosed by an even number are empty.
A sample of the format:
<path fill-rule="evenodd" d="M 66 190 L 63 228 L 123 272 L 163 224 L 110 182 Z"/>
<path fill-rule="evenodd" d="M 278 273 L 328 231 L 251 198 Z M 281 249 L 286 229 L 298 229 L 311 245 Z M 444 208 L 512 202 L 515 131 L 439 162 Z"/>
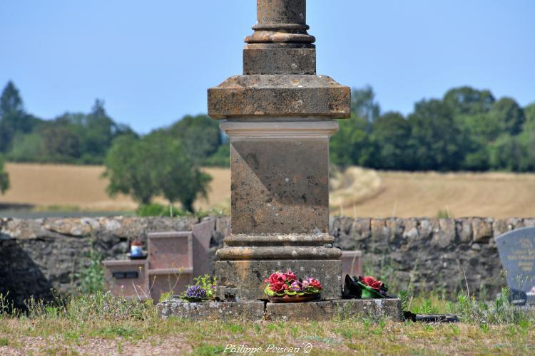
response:
<path fill-rule="evenodd" d="M 399 299 L 344 299 L 287 304 L 260 301 L 184 303 L 182 300 L 173 299 L 158 304 L 157 308 L 161 318 L 176 317 L 189 320 L 322 321 L 348 318 L 403 320 Z"/>

